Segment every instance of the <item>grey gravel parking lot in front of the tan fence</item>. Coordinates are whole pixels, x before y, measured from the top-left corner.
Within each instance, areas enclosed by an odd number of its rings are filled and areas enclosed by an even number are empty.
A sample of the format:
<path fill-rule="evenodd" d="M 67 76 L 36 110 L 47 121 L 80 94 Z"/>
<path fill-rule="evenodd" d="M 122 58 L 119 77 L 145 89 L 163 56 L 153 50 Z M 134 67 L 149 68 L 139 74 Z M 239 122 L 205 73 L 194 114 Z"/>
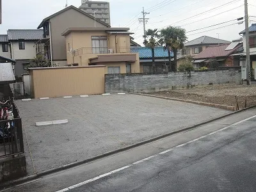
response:
<path fill-rule="evenodd" d="M 229 113 L 130 94 L 15 103 L 24 127 L 29 175 L 33 174 L 33 166 L 28 144 L 35 170 L 42 172 Z M 62 119 L 69 123 L 35 126 L 36 122 Z"/>

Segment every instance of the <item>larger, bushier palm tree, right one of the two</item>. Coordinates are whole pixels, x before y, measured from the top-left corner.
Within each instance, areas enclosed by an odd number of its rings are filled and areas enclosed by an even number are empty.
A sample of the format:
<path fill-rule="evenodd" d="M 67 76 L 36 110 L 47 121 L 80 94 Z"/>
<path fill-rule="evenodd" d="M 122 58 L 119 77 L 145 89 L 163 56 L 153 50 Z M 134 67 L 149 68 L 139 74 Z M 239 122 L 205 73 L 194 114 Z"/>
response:
<path fill-rule="evenodd" d="M 161 42 L 164 42 L 164 47 L 168 50 L 169 61 L 171 60 L 170 51 L 173 51 L 174 65 L 172 65 L 172 70 L 177 71 L 177 51 L 184 47 L 184 43 L 188 39 L 186 30 L 180 27 L 169 26 L 161 30 L 161 36 Z"/>

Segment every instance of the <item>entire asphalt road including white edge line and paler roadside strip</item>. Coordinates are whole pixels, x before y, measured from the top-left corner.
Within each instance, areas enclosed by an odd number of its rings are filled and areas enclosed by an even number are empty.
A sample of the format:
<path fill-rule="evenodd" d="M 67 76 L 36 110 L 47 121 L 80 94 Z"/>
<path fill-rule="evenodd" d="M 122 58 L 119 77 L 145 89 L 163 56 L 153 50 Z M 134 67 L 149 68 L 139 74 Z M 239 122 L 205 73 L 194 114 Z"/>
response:
<path fill-rule="evenodd" d="M 4 191 L 256 191 L 256 110 Z"/>

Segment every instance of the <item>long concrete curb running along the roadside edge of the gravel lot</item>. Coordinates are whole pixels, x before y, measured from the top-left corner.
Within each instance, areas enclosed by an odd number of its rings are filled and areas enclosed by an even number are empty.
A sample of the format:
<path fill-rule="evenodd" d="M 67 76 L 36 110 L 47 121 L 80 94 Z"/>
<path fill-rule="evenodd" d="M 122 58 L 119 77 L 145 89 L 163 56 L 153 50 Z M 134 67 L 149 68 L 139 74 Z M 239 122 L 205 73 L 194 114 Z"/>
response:
<path fill-rule="evenodd" d="M 152 138 L 152 139 L 149 139 L 149 140 L 145 140 L 145 141 L 142 141 L 140 143 L 135 143 L 133 145 L 128 145 L 127 147 L 124 147 L 124 148 L 119 148 L 117 150 L 113 150 L 113 151 L 110 151 L 110 152 L 106 152 L 102 155 L 99 155 L 99 156 L 95 156 L 95 157 L 92 157 L 92 158 L 89 158 L 89 159 L 85 159 L 83 161 L 77 161 L 77 162 L 74 162 L 74 163 L 70 163 L 70 164 L 65 164 L 63 166 L 60 166 L 58 168 L 52 168 L 51 170 L 46 170 L 44 172 L 41 172 L 41 173 L 38 173 L 36 175 L 30 175 L 28 177 L 22 177 L 20 179 L 17 179 L 17 180 L 12 180 L 10 182 L 6 182 L 4 184 L 0 184 L 0 190 L 3 190 L 3 189 L 6 189 L 6 188 L 10 188 L 10 187 L 13 187 L 13 186 L 16 186 L 16 185 L 19 185 L 19 184 L 22 184 L 24 182 L 29 182 L 31 180 L 35 180 L 35 179 L 39 179 L 40 177 L 43 177 L 45 175 L 49 175 L 51 173 L 56 173 L 56 172 L 60 172 L 60 171 L 63 171 L 63 170 L 67 170 L 69 168 L 74 168 L 75 166 L 79 166 L 81 164 L 86 164 L 86 163 L 90 163 L 92 161 L 95 161 L 95 160 L 98 160 L 98 159 L 102 159 L 104 157 L 108 157 L 108 156 L 111 156 L 113 154 L 117 154 L 119 152 L 124 152 L 125 150 L 129 150 L 131 148 L 135 148 L 135 147 L 139 147 L 141 145 L 145 145 L 147 143 L 152 143 L 153 141 L 157 141 L 157 140 L 161 140 L 163 138 L 166 138 L 168 136 L 172 136 L 173 134 L 177 134 L 177 133 L 180 133 L 180 132 L 184 132 L 184 131 L 189 131 L 191 129 L 195 129 L 196 127 L 199 127 L 199 126 L 202 126 L 202 125 L 205 125 L 205 124 L 209 124 L 211 122 L 214 122 L 216 120 L 220 120 L 221 118 L 225 118 L 227 116 L 231 116 L 231 115 L 234 115 L 234 114 L 237 114 L 237 113 L 241 113 L 243 111 L 246 111 L 248 109 L 252 109 L 252 108 L 256 108 L 256 106 L 251 106 L 249 108 L 244 108 L 244 109 L 241 109 L 239 111 L 234 111 L 234 112 L 231 112 L 231 113 L 228 113 L 226 115 L 223 115 L 223 116 L 219 116 L 217 118 L 213 118 L 211 120 L 207 120 L 205 122 L 202 122 L 200 124 L 196 124 L 196 125 L 192 125 L 190 127 L 186 127 L 184 129 L 180 129 L 178 131 L 173 131 L 173 132 L 170 132 L 170 133 L 167 133 L 167 134 L 163 134 L 161 136 L 157 136 L 155 138 Z"/>

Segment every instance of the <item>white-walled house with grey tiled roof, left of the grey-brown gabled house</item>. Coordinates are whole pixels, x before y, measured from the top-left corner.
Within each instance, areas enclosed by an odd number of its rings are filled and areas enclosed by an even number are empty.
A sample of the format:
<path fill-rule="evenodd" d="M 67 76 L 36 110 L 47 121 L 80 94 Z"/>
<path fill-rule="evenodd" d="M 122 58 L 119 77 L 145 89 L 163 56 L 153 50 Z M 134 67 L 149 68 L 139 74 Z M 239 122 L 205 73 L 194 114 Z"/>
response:
<path fill-rule="evenodd" d="M 21 77 L 27 73 L 28 65 L 36 56 L 35 44 L 42 38 L 41 29 L 9 29 L 7 31 L 8 41 L 10 43 L 10 58 L 16 61 L 15 76 Z"/>

